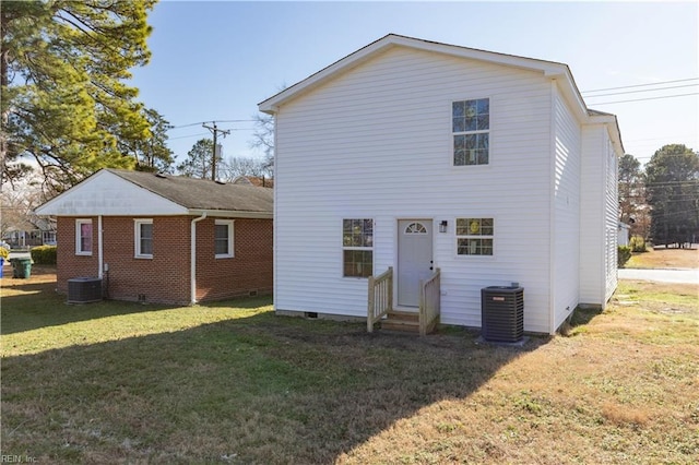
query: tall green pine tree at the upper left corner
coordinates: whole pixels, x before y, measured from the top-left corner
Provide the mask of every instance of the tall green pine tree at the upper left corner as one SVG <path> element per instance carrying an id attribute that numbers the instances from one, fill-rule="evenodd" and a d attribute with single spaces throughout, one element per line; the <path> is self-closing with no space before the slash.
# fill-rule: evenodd
<path id="1" fill-rule="evenodd" d="M 0 162 L 3 180 L 36 160 L 62 189 L 103 167 L 132 168 L 123 145 L 151 136 L 129 70 L 150 59 L 155 0 L 3 2 Z"/>

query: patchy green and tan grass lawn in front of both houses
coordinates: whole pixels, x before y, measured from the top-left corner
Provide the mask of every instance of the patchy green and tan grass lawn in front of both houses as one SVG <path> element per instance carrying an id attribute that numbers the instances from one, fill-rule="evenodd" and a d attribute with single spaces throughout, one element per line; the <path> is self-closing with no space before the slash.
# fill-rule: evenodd
<path id="1" fill-rule="evenodd" d="M 2 283 L 2 454 L 36 463 L 696 464 L 697 286 L 621 282 L 523 348 L 275 317 L 69 306 Z"/>

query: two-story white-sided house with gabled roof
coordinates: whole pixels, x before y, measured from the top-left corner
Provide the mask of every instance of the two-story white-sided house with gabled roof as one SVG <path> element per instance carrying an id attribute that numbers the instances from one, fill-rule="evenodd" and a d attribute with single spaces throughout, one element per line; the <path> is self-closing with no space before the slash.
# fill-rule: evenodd
<path id="1" fill-rule="evenodd" d="M 441 323 L 464 326 L 486 286 L 519 283 L 536 333 L 614 291 L 624 148 L 566 64 L 388 35 L 259 108 L 277 312 L 366 318 L 389 267 L 406 310 L 439 267 Z"/>

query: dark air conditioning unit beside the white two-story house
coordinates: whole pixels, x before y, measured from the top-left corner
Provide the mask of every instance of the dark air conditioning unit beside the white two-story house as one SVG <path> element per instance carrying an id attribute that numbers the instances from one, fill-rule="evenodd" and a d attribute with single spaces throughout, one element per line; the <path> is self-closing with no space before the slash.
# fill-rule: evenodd
<path id="1" fill-rule="evenodd" d="M 481 289 L 481 330 L 486 341 L 521 341 L 524 336 L 524 289 L 519 286 Z"/>

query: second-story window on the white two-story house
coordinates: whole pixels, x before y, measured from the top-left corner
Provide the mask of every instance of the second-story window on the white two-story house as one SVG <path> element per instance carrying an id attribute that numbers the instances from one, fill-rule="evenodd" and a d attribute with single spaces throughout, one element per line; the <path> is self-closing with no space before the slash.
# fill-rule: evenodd
<path id="1" fill-rule="evenodd" d="M 487 165 L 490 138 L 490 99 L 453 102 L 451 132 L 454 166 Z"/>

